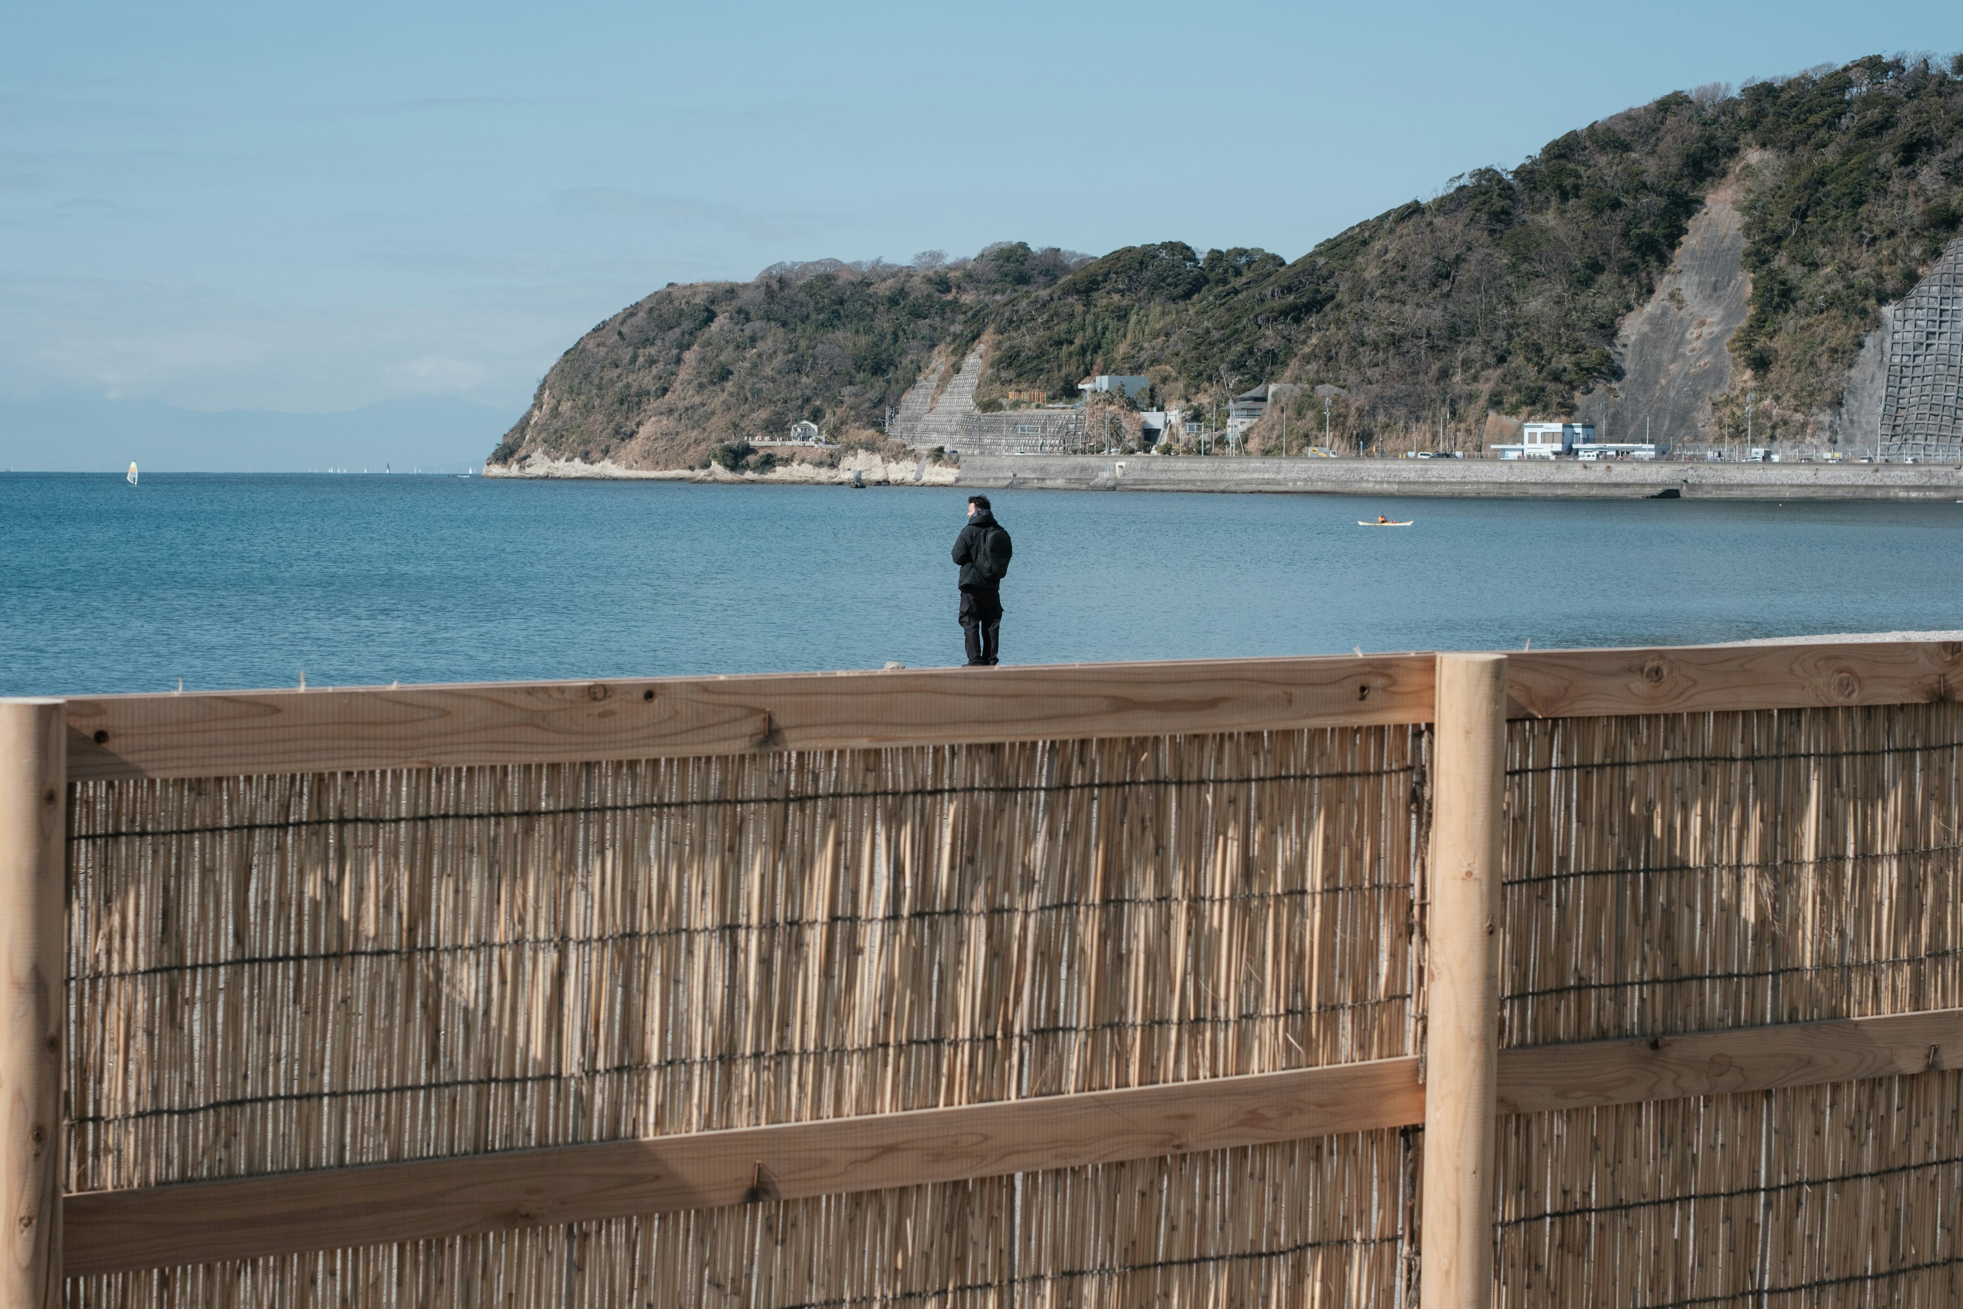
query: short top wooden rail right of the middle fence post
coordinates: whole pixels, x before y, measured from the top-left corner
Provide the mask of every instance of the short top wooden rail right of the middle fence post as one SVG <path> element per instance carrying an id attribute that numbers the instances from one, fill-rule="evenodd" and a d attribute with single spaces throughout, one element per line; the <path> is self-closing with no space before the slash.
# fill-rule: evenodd
<path id="1" fill-rule="evenodd" d="M 1508 657 L 1515 718 L 1922 705 L 1963 695 L 1963 644 L 1535 650 Z"/>

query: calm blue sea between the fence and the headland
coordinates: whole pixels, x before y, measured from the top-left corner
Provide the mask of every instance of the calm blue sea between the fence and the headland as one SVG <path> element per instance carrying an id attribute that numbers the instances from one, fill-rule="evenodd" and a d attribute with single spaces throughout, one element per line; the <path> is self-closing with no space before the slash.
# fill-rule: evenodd
<path id="1" fill-rule="evenodd" d="M 1963 504 L 993 500 L 1005 663 L 1963 628 Z M 0 695 L 958 663 L 964 502 L 0 475 Z"/>

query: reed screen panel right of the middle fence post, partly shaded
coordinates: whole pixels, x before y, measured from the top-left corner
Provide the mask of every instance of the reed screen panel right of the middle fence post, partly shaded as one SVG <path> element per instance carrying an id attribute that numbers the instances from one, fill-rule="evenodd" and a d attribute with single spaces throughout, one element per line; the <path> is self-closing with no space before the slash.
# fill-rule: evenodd
<path id="1" fill-rule="evenodd" d="M 1963 707 L 1513 724 L 1502 1040 L 1963 1005 Z M 1963 1303 L 1963 1073 L 1519 1115 L 1502 1301 Z"/>

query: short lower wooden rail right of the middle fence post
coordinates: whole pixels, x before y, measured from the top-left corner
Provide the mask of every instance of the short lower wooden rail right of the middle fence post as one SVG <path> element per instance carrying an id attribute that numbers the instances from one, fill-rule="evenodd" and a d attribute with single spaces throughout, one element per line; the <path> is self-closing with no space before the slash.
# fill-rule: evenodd
<path id="1" fill-rule="evenodd" d="M 1500 1113 L 1861 1081 L 1963 1068 L 1963 1009 L 1786 1022 L 1500 1056 Z"/>

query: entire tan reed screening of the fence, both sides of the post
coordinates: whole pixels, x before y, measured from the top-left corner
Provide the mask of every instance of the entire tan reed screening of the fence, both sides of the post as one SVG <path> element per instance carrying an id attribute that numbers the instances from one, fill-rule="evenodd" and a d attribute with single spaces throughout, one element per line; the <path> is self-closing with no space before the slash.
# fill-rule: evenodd
<path id="1" fill-rule="evenodd" d="M 1425 728 L 73 797 L 71 1189 L 1417 1052 Z M 1963 1005 L 1963 708 L 1515 724 L 1502 1034 Z M 1963 1073 L 1502 1121 L 1508 1305 L 1963 1303 Z M 73 1280 L 75 1305 L 1415 1303 L 1421 1132 Z"/>

